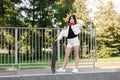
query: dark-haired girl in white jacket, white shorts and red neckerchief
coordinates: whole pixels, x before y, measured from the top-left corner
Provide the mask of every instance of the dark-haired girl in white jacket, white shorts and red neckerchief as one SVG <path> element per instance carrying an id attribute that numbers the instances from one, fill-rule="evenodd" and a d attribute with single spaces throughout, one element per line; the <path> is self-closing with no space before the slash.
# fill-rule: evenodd
<path id="1" fill-rule="evenodd" d="M 61 40 L 62 37 L 67 37 L 67 47 L 65 50 L 65 57 L 64 57 L 64 63 L 62 68 L 56 70 L 57 72 L 65 72 L 66 71 L 66 65 L 68 63 L 68 58 L 70 55 L 70 52 L 73 48 L 74 50 L 74 56 L 75 56 L 75 67 L 73 68 L 72 72 L 77 73 L 78 72 L 78 65 L 79 65 L 79 38 L 78 34 L 80 33 L 80 28 L 84 25 L 83 21 L 79 20 L 77 22 L 76 16 L 71 15 L 68 20 L 68 24 L 60 34 L 58 35 L 57 39 L 55 41 Z"/>

